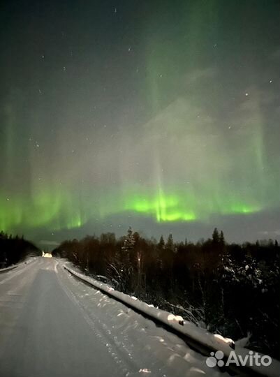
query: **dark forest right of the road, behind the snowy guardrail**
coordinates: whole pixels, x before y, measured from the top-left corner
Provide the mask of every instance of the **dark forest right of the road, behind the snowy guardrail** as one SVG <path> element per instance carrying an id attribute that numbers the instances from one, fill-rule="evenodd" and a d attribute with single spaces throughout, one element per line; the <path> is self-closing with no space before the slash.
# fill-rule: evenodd
<path id="1" fill-rule="evenodd" d="M 193 243 L 146 239 L 131 228 L 62 242 L 67 258 L 115 289 L 183 316 L 210 332 L 249 338 L 249 348 L 280 358 L 277 241 L 228 244 L 214 229 Z"/>

